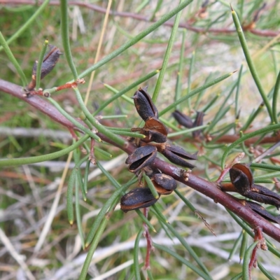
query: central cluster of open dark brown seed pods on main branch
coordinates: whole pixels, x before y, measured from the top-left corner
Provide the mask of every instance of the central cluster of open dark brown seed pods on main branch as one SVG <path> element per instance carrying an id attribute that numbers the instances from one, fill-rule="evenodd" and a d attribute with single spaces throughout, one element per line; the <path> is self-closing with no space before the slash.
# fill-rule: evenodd
<path id="1" fill-rule="evenodd" d="M 128 170 L 135 174 L 146 172 L 155 190 L 160 195 L 169 195 L 176 189 L 176 181 L 166 174 L 151 168 L 157 153 L 162 153 L 170 162 L 193 169 L 195 165 L 187 160 L 197 160 L 197 153 L 190 154 L 179 146 L 167 143 L 167 128 L 158 119 L 158 109 L 153 104 L 147 87 L 139 88 L 134 93 L 134 104 L 139 116 L 144 120 L 144 127 L 132 128 L 132 132 L 144 134 L 146 138 L 134 141 L 137 149 L 129 155 L 125 163 Z M 136 188 L 124 195 L 120 200 L 120 209 L 127 212 L 134 209 L 150 207 L 158 201 L 149 188 Z"/>

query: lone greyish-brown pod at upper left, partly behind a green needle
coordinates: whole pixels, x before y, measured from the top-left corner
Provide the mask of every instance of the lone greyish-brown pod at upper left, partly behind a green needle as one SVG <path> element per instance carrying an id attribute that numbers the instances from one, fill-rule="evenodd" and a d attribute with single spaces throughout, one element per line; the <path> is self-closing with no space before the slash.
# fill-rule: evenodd
<path id="1" fill-rule="evenodd" d="M 57 48 L 55 45 L 49 45 L 50 50 L 48 53 L 45 54 L 43 58 L 43 63 L 41 67 L 41 79 L 54 69 L 55 64 L 57 64 L 59 56 L 62 55 L 62 52 Z M 38 61 L 34 62 L 33 69 L 32 69 L 32 80 L 27 86 L 27 90 L 34 90 L 36 87 L 36 71 L 37 71 L 37 64 Z"/>

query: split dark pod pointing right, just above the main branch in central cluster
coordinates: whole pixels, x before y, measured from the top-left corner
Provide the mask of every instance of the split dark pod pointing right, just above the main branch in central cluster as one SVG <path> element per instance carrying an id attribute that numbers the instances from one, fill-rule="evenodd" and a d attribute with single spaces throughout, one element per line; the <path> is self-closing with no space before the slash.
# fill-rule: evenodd
<path id="1" fill-rule="evenodd" d="M 190 164 L 190 162 L 187 162 L 186 160 L 197 160 L 197 153 L 190 154 L 187 153 L 183 148 L 170 144 L 165 144 L 158 147 L 158 151 L 175 165 L 188 167 L 190 169 L 195 167 L 195 165 Z"/>

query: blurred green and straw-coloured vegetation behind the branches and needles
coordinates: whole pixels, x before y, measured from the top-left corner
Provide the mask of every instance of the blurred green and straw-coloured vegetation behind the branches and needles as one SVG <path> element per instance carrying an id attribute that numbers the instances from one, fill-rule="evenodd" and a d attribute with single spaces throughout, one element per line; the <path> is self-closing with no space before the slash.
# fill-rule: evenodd
<path id="1" fill-rule="evenodd" d="M 13 1 L 9 4 L 3 2 L 5 1 L 0 1 L 0 27 L 3 36 L 8 39 L 34 15 L 38 6 L 33 1 L 22 1 L 15 5 L 12 4 Z M 50 44 L 57 45 L 64 52 L 58 1 L 50 2 L 51 4 L 38 15 L 36 20 L 10 43 L 10 49 L 28 78 L 31 78 L 32 66 L 38 59 L 45 38 L 48 38 Z M 278 0 L 231 1 L 244 29 L 248 29 L 245 33 L 248 47 L 262 86 L 267 93 L 273 90 L 279 72 L 279 2 Z M 94 64 L 107 2 L 80 0 L 75 3 L 76 5 L 73 5 L 69 1 L 69 34 L 73 61 L 78 73 L 81 73 Z M 93 8 L 84 7 L 83 3 L 92 3 Z M 118 14 L 109 15 L 100 58 L 119 48 L 128 39 L 149 27 L 154 19 L 161 18 L 178 4 L 179 1 L 167 0 L 113 1 L 111 10 L 118 10 Z M 172 23 L 173 20 L 174 18 L 170 22 Z M 204 117 L 204 124 L 214 120 L 221 109 L 228 107 L 228 111 L 218 118 L 218 123 L 211 128 L 209 134 L 211 137 L 220 134 L 235 134 L 238 128 L 246 123 L 253 110 L 258 109 L 262 99 L 244 60 L 232 22 L 230 1 L 193 1 L 183 10 L 180 22 L 181 27 L 176 34 L 176 41 L 160 90 L 160 98 L 156 102 L 158 110 L 161 111 L 174 102 L 180 65 L 183 66 L 181 85 L 179 85 L 182 95 L 203 85 L 207 80 L 214 80 L 225 73 L 240 70 L 243 66 L 241 72 L 235 73 L 202 94 L 192 97 L 190 102 L 179 106 L 183 113 L 195 118 L 195 111 L 205 109 L 205 106 L 218 95 L 214 106 L 209 108 Z M 147 73 L 160 69 L 171 31 L 172 27 L 162 25 L 121 55 L 97 69 L 87 108 L 93 112 L 102 102 L 112 96 L 113 93 L 104 86 L 104 83 L 122 90 Z M 182 48 L 183 36 L 186 36 L 186 39 Z M 0 78 L 21 85 L 18 73 L 3 50 L 0 52 L 0 64 Z M 144 83 L 148 85 L 148 92 L 153 92 L 157 78 L 158 76 L 154 76 Z M 62 55 L 55 69 L 42 80 L 41 87 L 45 89 L 63 85 L 71 79 L 71 71 L 67 66 L 66 58 Z M 85 80 L 87 82 L 89 77 L 85 77 Z M 233 86 L 237 80 L 239 81 L 239 100 L 236 103 L 237 87 Z M 232 88 L 234 94 L 230 94 Z M 87 83 L 80 85 L 79 89 L 84 97 Z M 137 87 L 128 92 L 127 97 L 132 97 L 135 90 Z M 25 102 L 3 92 L 0 94 L 1 158 L 44 155 L 71 144 L 71 134 L 62 125 L 45 117 L 43 113 L 36 111 Z M 52 98 L 59 102 L 71 116 L 80 116 L 80 107 L 72 90 L 57 92 L 52 94 Z M 239 112 L 238 120 L 236 120 L 237 112 Z M 178 126 L 170 113 L 165 115 L 165 118 Z M 111 119 L 106 125 L 113 124 L 116 127 L 139 125 L 139 116 L 134 106 L 123 99 L 117 99 L 116 102 L 106 106 L 101 114 L 102 116 L 127 115 L 127 118 Z M 236 126 L 227 130 L 228 125 L 232 123 Z M 264 110 L 255 118 L 250 129 L 255 130 L 266 125 L 269 125 L 269 116 Z M 204 143 L 197 144 L 192 141 L 191 133 L 186 137 L 188 141 L 181 138 L 176 139 L 176 143 L 184 146 L 187 151 L 200 151 L 197 168 L 193 170 L 193 173 L 211 181 L 217 179 L 221 171 L 219 167 L 226 143 L 204 146 Z M 106 165 L 111 175 L 120 184 L 127 183 L 132 175 L 127 172 L 126 156 L 123 151 L 106 144 L 99 144 L 99 147 L 111 153 L 113 159 L 99 153 L 97 153 L 97 159 Z M 265 147 L 262 146 L 262 148 Z M 242 151 L 241 148 L 237 149 L 237 152 L 239 151 Z M 251 151 L 257 153 L 258 147 L 253 146 Z M 274 151 L 277 156 L 276 152 Z M 232 157 L 235 155 L 233 154 Z M 250 161 L 253 155 L 248 151 L 244 162 Z M 41 250 L 34 252 L 41 229 L 56 196 L 66 159 L 67 157 L 64 156 L 52 162 L 0 170 L 0 225 L 16 251 L 20 255 L 25 255 L 25 263 L 34 275 L 34 279 L 78 279 L 85 259 L 86 252 L 81 249 L 76 224 L 70 227 L 66 216 L 66 183 L 62 189 L 62 197 L 59 200 L 51 229 Z M 70 169 L 73 166 L 72 163 Z M 258 172 L 257 175 L 264 174 Z M 265 186 L 273 188 L 274 184 Z M 96 167 L 91 166 L 87 202 L 80 197 L 80 212 L 85 233 L 92 225 L 94 216 L 97 215 L 104 202 L 111 197 L 114 190 L 106 176 Z M 241 241 L 241 228 L 221 205 L 215 204 L 186 186 L 179 185 L 179 190 L 202 214 L 216 236 L 175 194 L 160 199 L 158 205 L 162 213 L 167 216 L 169 223 L 176 228 L 177 232 L 186 238 L 188 244 L 193 246 L 195 253 L 200 256 L 213 279 L 231 279 L 241 272 L 240 244 L 231 260 L 228 260 L 235 241 Z M 193 262 L 176 238 L 173 241 L 169 239 L 158 219 L 153 214 L 149 218 L 157 230 L 156 234 L 152 234 L 153 241 L 161 244 L 163 242 L 183 258 Z M 117 207 L 99 242 L 87 275 L 88 279 L 133 279 L 131 260 L 133 260 L 134 239 L 141 226 L 142 221 L 134 211 L 124 214 Z M 253 241 L 249 237 L 248 244 L 251 243 Z M 276 242 L 274 245 L 280 248 Z M 141 256 L 145 258 L 146 242 L 141 241 L 140 246 Z M 258 257 L 276 279 L 280 277 L 279 258 L 263 251 L 258 251 Z M 113 272 L 113 269 L 117 269 L 116 272 Z M 112 274 L 106 274 L 106 272 L 112 272 Z M 154 279 L 198 279 L 197 274 L 182 265 L 182 262 L 158 249 L 155 249 L 151 255 L 151 272 Z M 0 275 L 1 279 L 25 279 L 20 278 L 22 269 L 3 244 L 0 247 Z M 253 269 L 253 277 L 267 279 L 259 269 Z"/>

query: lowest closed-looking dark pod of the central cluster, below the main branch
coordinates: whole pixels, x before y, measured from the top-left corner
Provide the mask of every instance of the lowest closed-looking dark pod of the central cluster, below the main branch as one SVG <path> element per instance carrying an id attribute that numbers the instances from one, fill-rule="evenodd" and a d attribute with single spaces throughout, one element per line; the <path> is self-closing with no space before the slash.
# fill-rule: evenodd
<path id="1" fill-rule="evenodd" d="M 149 188 L 136 188 L 120 199 L 120 209 L 124 212 L 150 207 L 158 200 Z"/>

